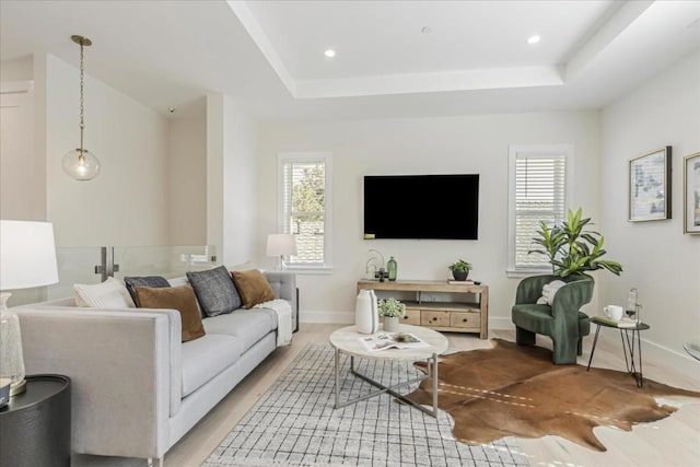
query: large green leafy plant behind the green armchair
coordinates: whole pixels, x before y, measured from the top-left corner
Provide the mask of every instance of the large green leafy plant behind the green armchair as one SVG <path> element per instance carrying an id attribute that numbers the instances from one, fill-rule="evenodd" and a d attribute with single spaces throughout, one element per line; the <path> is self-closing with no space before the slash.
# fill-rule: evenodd
<path id="1" fill-rule="evenodd" d="M 537 231 L 539 237 L 533 241 L 542 249 L 527 253 L 546 255 L 555 276 L 583 275 L 596 269 L 607 269 L 619 276 L 622 272 L 619 262 L 600 259 L 607 254 L 603 248 L 604 237 L 598 232 L 587 230 L 590 223 L 591 218 L 583 218 L 581 208 L 575 213 L 569 209 L 563 223 L 551 227 L 546 222 L 540 223 Z"/>

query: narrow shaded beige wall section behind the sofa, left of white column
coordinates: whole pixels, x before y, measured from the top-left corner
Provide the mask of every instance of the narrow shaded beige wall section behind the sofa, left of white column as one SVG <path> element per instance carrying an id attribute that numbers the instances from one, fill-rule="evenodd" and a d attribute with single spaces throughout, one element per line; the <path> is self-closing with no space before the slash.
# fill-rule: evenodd
<path id="1" fill-rule="evenodd" d="M 171 245 L 206 245 L 206 119 L 171 120 L 167 168 Z"/>

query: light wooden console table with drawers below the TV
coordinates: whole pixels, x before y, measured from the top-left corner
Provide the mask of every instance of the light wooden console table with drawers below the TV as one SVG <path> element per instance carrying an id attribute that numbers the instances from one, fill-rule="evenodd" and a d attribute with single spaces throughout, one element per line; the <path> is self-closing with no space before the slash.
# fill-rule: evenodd
<path id="1" fill-rule="evenodd" d="M 444 281 L 358 281 L 358 293 L 371 289 L 377 297 L 394 296 L 406 304 L 402 324 L 425 326 L 451 332 L 476 332 L 481 339 L 489 337 L 489 288 L 469 283 Z M 405 295 L 411 299 L 406 300 Z M 433 301 L 436 295 L 456 297 L 452 301 Z M 468 294 L 468 295 L 467 295 Z M 471 300 L 471 297 L 476 300 Z"/>

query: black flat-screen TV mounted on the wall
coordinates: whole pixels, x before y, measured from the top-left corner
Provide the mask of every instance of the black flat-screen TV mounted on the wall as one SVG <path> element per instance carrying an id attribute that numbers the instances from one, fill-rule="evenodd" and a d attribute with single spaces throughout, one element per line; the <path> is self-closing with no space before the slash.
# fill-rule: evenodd
<path id="1" fill-rule="evenodd" d="M 365 175 L 364 238 L 477 240 L 479 174 Z"/>

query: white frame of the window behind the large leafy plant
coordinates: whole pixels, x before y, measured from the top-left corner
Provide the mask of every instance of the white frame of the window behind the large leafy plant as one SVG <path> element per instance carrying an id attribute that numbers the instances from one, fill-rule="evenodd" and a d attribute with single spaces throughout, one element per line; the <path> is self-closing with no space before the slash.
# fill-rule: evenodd
<path id="1" fill-rule="evenodd" d="M 564 199 L 563 215 L 573 199 L 573 165 L 574 165 L 574 145 L 573 144 L 512 144 L 509 145 L 509 195 L 508 195 L 508 277 L 523 277 L 533 273 L 551 273 L 551 266 L 518 266 L 515 262 L 515 175 L 516 162 L 523 157 L 552 157 L 561 155 L 564 159 Z M 563 220 L 563 219 L 562 219 Z"/>

